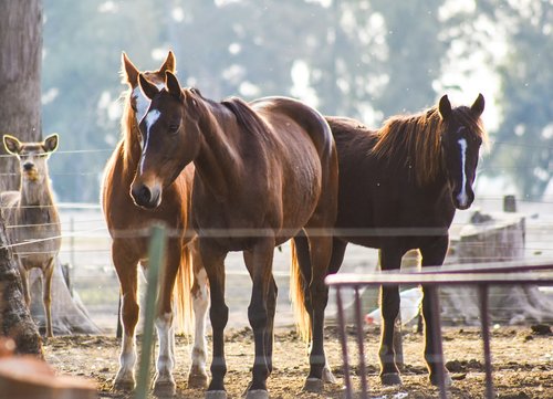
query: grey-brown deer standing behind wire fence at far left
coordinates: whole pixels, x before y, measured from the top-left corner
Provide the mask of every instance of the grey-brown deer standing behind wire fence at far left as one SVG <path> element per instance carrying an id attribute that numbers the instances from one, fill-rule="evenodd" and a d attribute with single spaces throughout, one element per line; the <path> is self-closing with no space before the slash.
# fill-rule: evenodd
<path id="1" fill-rule="evenodd" d="M 60 252 L 60 217 L 54 204 L 46 160 L 58 149 L 56 134 L 41 143 L 21 143 L 10 135 L 3 136 L 6 150 L 18 157 L 21 167 L 19 191 L 0 193 L 2 217 L 8 239 L 18 263 L 23 295 L 30 305 L 29 271 L 42 270 L 42 301 L 46 316 L 46 337 L 52 337 L 52 274 Z"/>

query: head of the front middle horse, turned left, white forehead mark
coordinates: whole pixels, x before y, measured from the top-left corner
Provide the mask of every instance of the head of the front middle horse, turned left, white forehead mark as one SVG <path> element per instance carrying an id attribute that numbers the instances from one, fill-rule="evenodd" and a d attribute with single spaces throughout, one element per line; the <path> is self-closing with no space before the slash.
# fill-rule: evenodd
<path id="1" fill-rule="evenodd" d="M 191 162 L 200 148 L 200 97 L 181 90 L 177 77 L 166 72 L 166 88 L 159 90 L 138 75 L 142 91 L 150 99 L 139 124 L 142 155 L 131 196 L 136 204 L 156 208 L 163 190 Z"/>

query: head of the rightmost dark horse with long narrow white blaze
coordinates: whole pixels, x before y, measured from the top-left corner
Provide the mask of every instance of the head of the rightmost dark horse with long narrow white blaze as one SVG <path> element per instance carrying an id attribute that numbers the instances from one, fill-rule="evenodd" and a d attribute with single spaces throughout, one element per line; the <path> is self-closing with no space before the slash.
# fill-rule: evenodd
<path id="1" fill-rule="evenodd" d="M 438 111 L 445 124 L 441 134 L 444 165 L 451 189 L 451 200 L 457 209 L 468 209 L 474 200 L 474 182 L 479 150 L 486 133 L 480 115 L 484 109 L 481 94 L 470 106 L 452 108 L 447 95 L 442 96 Z"/>

